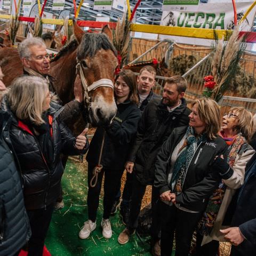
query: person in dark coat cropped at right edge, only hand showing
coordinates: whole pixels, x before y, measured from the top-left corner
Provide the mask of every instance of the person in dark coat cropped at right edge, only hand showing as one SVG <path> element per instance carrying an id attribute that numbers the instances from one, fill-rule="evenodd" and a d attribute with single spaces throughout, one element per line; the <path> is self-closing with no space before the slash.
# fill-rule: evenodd
<path id="1" fill-rule="evenodd" d="M 231 227 L 220 230 L 232 243 L 231 256 L 253 256 L 256 250 L 256 155 L 247 164 Z"/>

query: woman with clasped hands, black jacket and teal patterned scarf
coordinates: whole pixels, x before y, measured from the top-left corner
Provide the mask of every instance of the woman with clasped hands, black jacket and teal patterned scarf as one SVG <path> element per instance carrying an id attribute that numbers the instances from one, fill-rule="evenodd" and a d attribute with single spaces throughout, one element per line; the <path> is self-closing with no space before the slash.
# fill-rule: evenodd
<path id="1" fill-rule="evenodd" d="M 222 172 L 215 157 L 227 159 L 227 146 L 218 135 L 220 109 L 212 99 L 193 103 L 189 125 L 175 128 L 157 156 L 155 183 L 162 201 L 161 255 L 187 256 L 197 222 Z"/>

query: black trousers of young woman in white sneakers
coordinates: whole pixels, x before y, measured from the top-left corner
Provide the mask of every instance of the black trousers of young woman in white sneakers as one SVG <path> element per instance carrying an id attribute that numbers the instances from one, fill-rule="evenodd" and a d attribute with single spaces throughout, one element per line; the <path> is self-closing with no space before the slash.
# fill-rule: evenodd
<path id="1" fill-rule="evenodd" d="M 97 210 L 99 207 L 99 197 L 101 190 L 101 183 L 103 174 L 105 173 L 104 180 L 104 197 L 103 197 L 103 219 L 109 219 L 111 208 L 115 201 L 116 191 L 118 189 L 120 180 L 122 178 L 123 170 L 113 170 L 102 168 L 98 174 L 98 180 L 96 186 L 92 188 L 90 181 L 93 177 L 92 171 L 95 166 L 88 165 L 88 195 L 87 195 L 87 206 L 88 206 L 88 217 L 89 220 L 95 222 Z"/>

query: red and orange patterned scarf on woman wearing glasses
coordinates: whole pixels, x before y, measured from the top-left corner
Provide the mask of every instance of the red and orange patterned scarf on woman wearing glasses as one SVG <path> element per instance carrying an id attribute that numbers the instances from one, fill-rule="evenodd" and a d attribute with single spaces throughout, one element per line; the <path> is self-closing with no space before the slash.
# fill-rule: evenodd
<path id="1" fill-rule="evenodd" d="M 222 135 L 222 134 L 220 134 Z M 241 135 L 237 134 L 233 138 L 223 138 L 227 145 L 229 145 L 229 155 L 227 162 L 230 167 L 233 167 L 236 156 L 241 149 L 242 145 L 246 142 L 246 139 Z M 230 143 L 231 141 L 231 143 Z M 213 225 L 217 218 L 218 212 L 220 210 L 221 203 L 223 201 L 223 197 L 225 195 L 227 186 L 223 181 L 219 183 L 218 188 L 213 192 L 210 196 L 209 202 L 206 206 L 206 210 L 203 213 L 202 219 L 198 222 L 198 231 L 203 235 L 209 235 L 213 229 Z"/>

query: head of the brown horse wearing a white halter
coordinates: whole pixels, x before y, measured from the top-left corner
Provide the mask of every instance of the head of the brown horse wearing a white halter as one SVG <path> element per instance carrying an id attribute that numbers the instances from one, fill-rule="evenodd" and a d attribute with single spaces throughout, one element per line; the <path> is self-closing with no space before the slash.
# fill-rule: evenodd
<path id="1" fill-rule="evenodd" d="M 109 124 L 117 110 L 113 84 L 117 58 L 111 30 L 105 26 L 102 34 L 84 33 L 74 22 L 74 35 L 79 44 L 77 71 L 84 87 L 84 101 L 89 104 L 90 121 L 94 125 Z"/>

